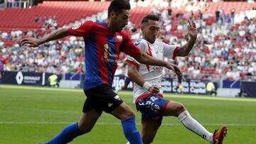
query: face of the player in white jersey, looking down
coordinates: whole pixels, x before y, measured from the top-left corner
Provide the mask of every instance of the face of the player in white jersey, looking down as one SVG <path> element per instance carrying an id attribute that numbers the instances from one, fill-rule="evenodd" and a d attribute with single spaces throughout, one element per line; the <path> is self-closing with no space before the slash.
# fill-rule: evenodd
<path id="1" fill-rule="evenodd" d="M 159 35 L 159 21 L 149 20 L 142 25 L 142 34 L 149 43 L 154 43 Z"/>

